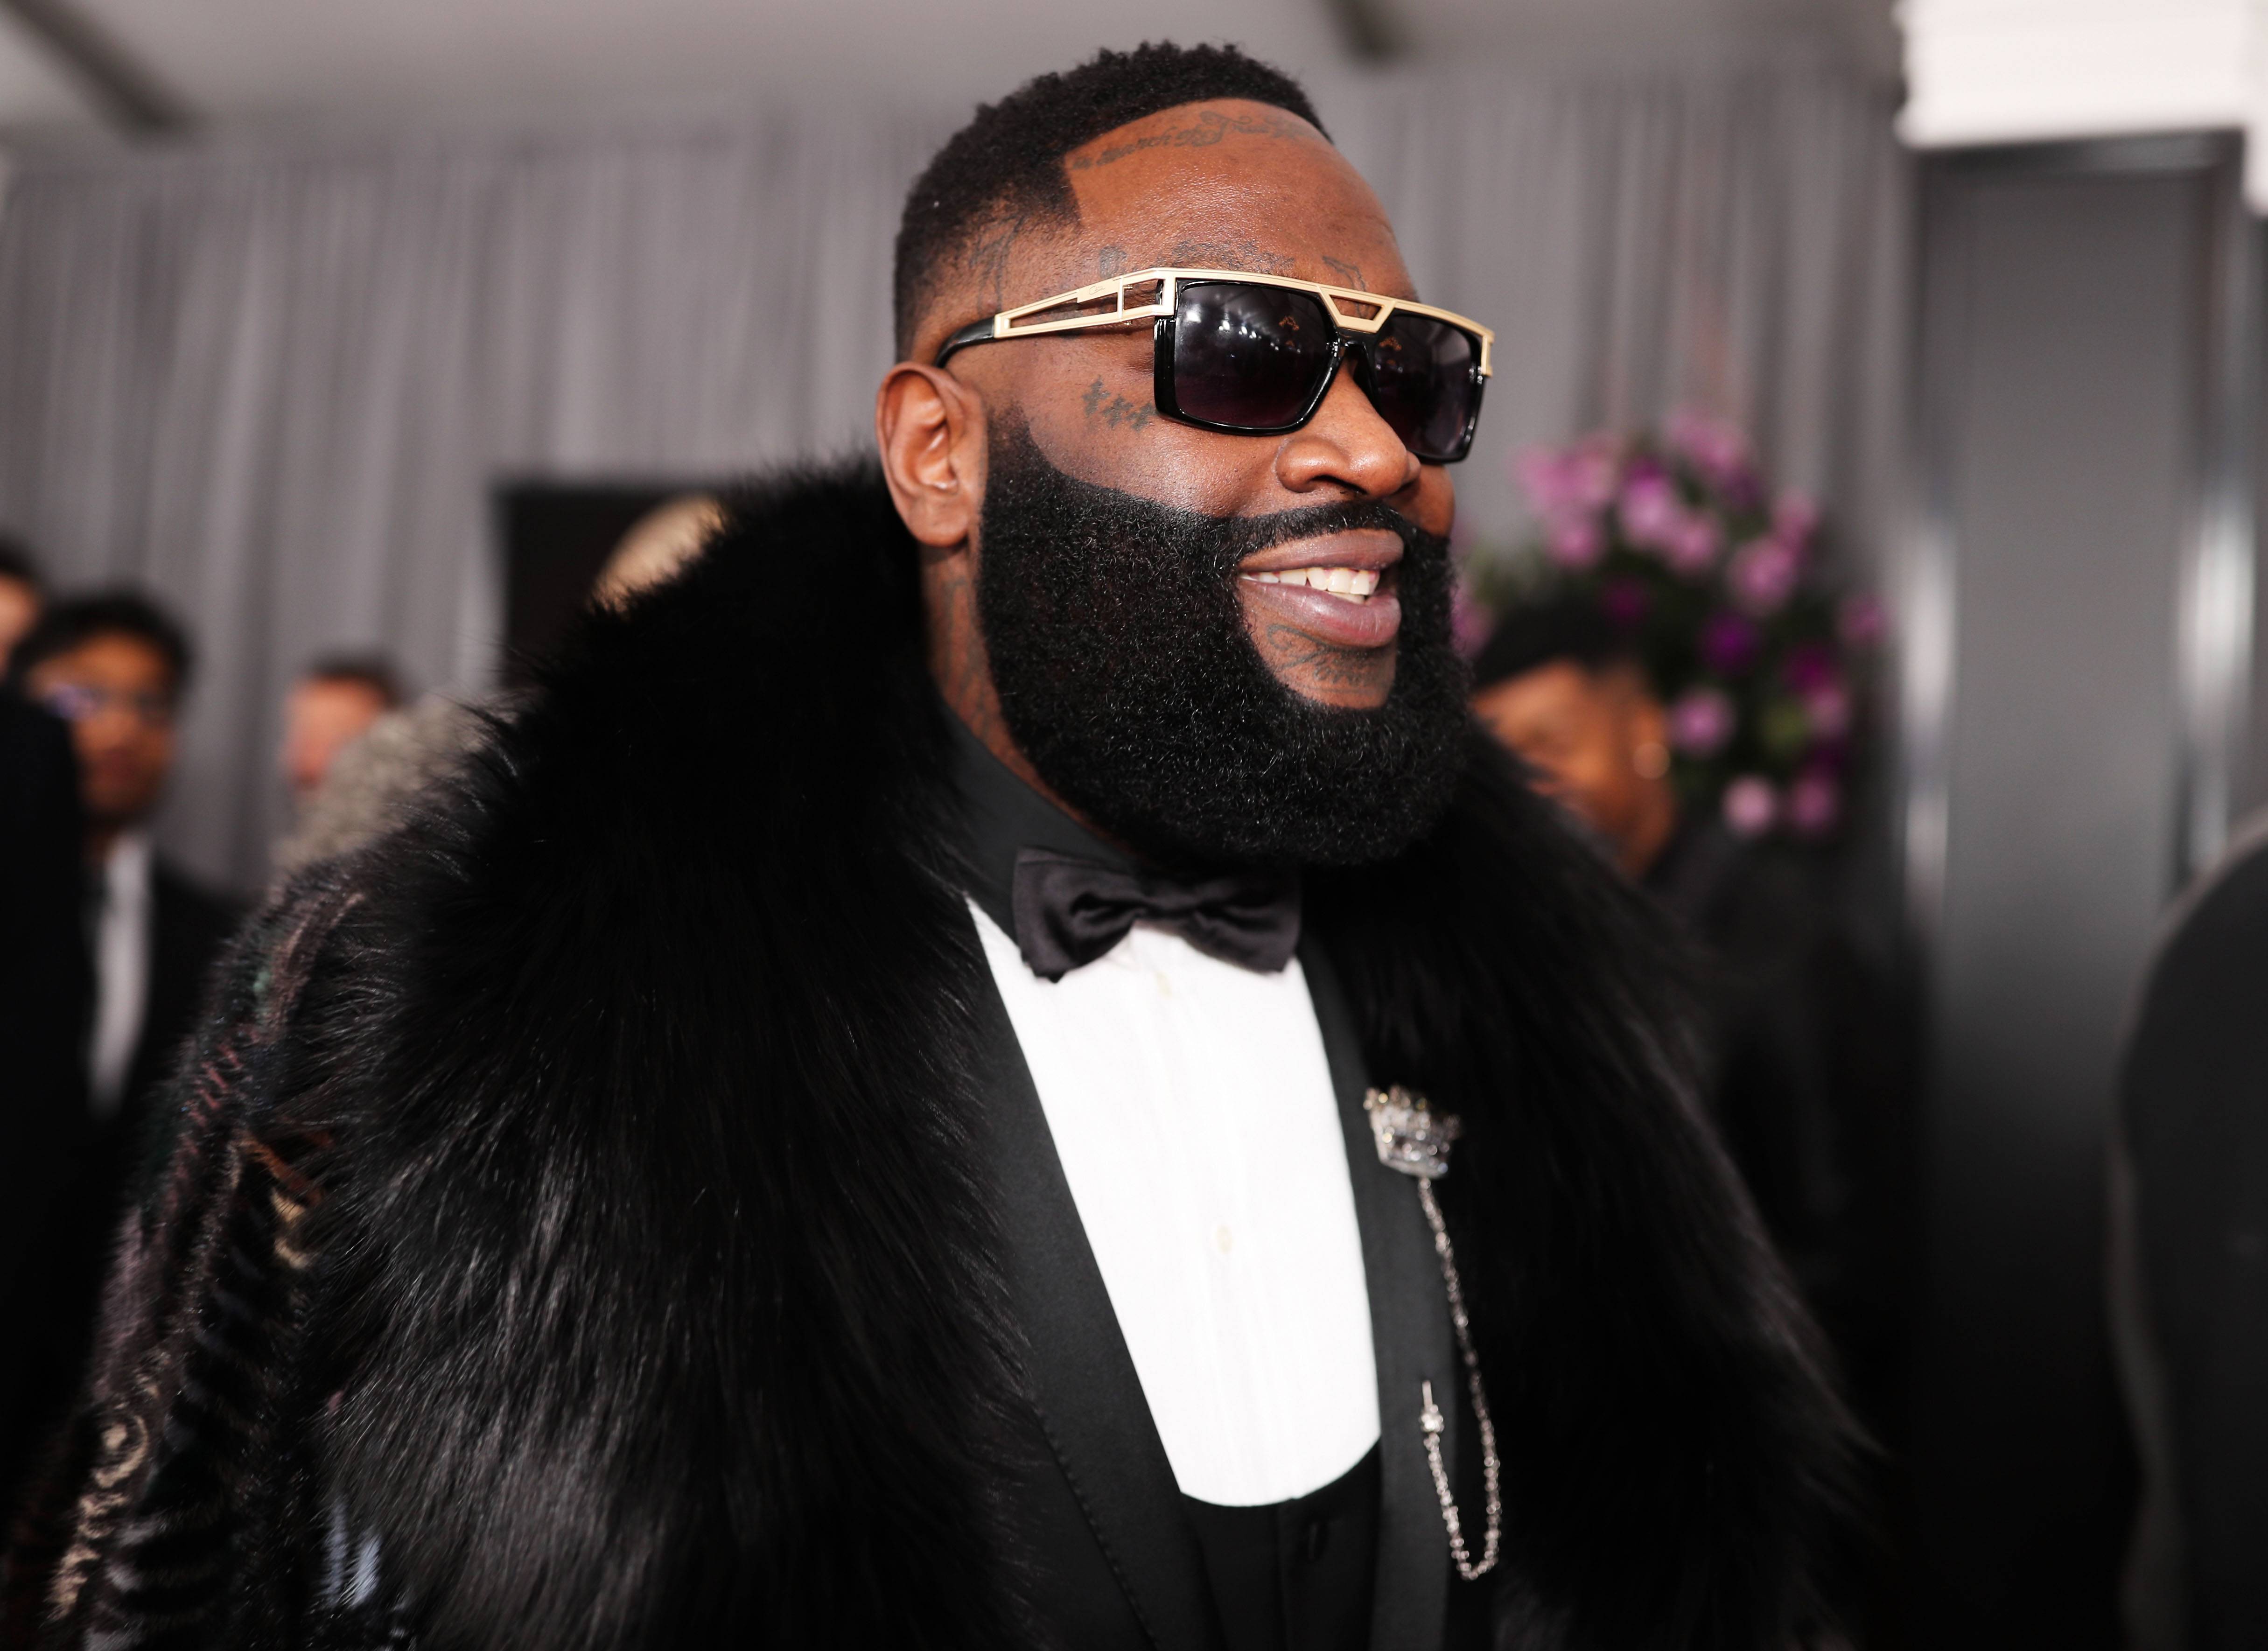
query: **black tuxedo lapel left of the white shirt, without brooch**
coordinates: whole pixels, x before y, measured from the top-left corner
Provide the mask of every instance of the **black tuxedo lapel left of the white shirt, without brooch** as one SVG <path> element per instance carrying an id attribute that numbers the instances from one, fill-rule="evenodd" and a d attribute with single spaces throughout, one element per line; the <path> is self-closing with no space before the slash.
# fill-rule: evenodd
<path id="1" fill-rule="evenodd" d="M 1148 1642 L 1207 1651 L 1216 1631 L 1204 1553 L 989 975 L 978 984 L 975 1016 L 1000 1265 L 1030 1343 L 1025 1381 L 1041 1431 Z"/>

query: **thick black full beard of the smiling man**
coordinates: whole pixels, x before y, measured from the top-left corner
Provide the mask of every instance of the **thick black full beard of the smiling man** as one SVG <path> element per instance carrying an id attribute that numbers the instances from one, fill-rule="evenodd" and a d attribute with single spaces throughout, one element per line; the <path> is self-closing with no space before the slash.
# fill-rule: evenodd
<path id="1" fill-rule="evenodd" d="M 1245 633 L 1236 565 L 1345 528 L 1402 540 L 1395 683 L 1318 705 Z M 996 433 L 978 615 L 1007 730 L 1055 791 L 1161 864 L 1388 860 L 1449 805 L 1465 667 L 1449 542 L 1377 501 L 1209 517 L 1066 476 Z"/>

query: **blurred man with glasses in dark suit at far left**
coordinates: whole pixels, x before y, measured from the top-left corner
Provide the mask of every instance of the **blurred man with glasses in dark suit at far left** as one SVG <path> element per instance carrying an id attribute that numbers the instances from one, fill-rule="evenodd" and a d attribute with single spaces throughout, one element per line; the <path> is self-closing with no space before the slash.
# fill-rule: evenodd
<path id="1" fill-rule="evenodd" d="M 45 744 L 61 744 L 54 719 L 68 728 L 68 753 L 50 751 L 45 767 L 52 757 L 77 764 L 82 878 L 66 866 L 61 887 L 84 889 L 84 903 L 77 934 L 50 946 L 70 948 L 68 957 L 45 964 L 77 984 L 68 1021 L 75 1082 L 70 1093 L 11 1104 L 16 1141 L 34 1143 L 23 1154 L 29 1172 L 68 1197 L 39 1200 L 61 1213 L 11 1234 L 11 1265 L 0 1275 L 9 1279 L 7 1322 L 18 1331 L 16 1395 L 11 1415 L 0 1417 L 0 1497 L 23 1481 L 77 1381 L 118 1211 L 161 1154 L 152 1098 L 238 916 L 150 837 L 188 685 L 181 628 L 132 592 L 79 596 L 48 608 L 11 664 L 20 714 L 45 728 Z M 43 964 L 25 959 L 23 968 L 36 977 Z"/>

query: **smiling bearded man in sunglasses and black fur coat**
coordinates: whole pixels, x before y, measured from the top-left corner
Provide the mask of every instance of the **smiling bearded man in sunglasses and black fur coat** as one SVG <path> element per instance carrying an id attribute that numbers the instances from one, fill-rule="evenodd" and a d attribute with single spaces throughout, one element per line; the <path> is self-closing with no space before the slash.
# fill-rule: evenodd
<path id="1" fill-rule="evenodd" d="M 880 476 L 245 941 L 18 1619 L 1817 1642 L 1842 1413 L 1463 710 L 1486 331 L 1225 50 L 980 111 L 896 290 Z"/>

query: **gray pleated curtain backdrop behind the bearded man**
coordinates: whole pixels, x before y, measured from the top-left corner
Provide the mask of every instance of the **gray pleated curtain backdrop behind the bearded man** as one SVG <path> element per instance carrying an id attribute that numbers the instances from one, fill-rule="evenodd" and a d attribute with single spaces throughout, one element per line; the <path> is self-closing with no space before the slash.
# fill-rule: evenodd
<path id="1" fill-rule="evenodd" d="M 1322 88 L 1427 297 L 1499 329 L 1461 533 L 1508 456 L 1742 420 L 1864 565 L 1898 483 L 1907 172 L 1821 68 Z M 286 823 L 313 653 L 494 671 L 499 479 L 712 476 L 869 442 L 889 243 L 953 118 L 767 111 L 565 134 L 18 156 L 0 209 L 0 524 L 202 653 L 166 841 L 236 887 Z"/>

